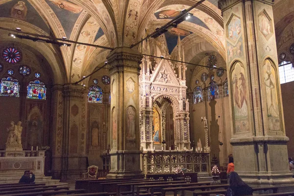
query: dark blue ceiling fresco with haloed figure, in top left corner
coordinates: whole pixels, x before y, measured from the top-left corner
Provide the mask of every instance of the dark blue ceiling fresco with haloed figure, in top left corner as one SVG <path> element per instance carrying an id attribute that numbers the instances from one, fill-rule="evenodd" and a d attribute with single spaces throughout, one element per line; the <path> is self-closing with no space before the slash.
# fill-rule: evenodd
<path id="1" fill-rule="evenodd" d="M 50 32 L 45 21 L 27 0 L 12 0 L 1 4 L 0 17 L 23 20 L 41 28 L 47 33 Z"/>

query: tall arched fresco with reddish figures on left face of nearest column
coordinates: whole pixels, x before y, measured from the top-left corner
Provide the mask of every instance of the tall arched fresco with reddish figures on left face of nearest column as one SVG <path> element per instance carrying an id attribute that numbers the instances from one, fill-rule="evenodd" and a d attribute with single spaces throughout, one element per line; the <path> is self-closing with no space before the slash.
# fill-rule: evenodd
<path id="1" fill-rule="evenodd" d="M 249 129 L 247 86 L 245 81 L 245 69 L 238 62 L 235 64 L 231 75 L 233 107 L 235 119 L 235 132 L 245 132 Z"/>

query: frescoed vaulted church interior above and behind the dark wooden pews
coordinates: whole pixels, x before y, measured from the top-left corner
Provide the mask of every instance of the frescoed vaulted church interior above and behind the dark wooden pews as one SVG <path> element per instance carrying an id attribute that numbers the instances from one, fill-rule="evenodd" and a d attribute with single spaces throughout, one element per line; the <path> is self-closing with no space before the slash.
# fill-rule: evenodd
<path id="1" fill-rule="evenodd" d="M 0 183 L 294 184 L 293 0 L 0 0 L 0 52 Z"/>

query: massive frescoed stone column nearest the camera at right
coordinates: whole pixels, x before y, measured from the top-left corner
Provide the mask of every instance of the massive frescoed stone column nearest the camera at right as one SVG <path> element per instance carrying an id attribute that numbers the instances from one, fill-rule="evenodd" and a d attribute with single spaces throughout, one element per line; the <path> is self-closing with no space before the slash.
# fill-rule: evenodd
<path id="1" fill-rule="evenodd" d="M 219 0 L 226 35 L 235 170 L 256 185 L 294 183 L 289 172 L 272 0 Z"/>

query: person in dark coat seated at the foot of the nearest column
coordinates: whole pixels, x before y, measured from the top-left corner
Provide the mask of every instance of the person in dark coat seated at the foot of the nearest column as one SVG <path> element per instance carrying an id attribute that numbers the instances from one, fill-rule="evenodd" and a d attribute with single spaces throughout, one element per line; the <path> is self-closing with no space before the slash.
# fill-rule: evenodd
<path id="1" fill-rule="evenodd" d="M 252 196 L 253 190 L 238 175 L 237 172 L 229 173 L 230 186 L 225 196 Z"/>

